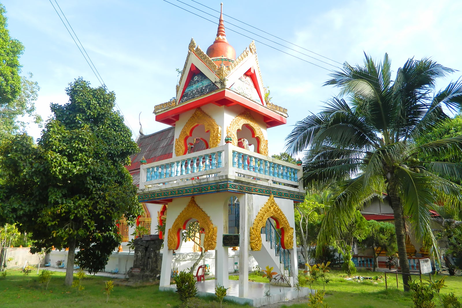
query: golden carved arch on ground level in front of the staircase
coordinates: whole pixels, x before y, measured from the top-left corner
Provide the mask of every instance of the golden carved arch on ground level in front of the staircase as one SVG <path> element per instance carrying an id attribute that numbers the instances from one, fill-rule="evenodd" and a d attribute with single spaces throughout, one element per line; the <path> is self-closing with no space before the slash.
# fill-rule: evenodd
<path id="1" fill-rule="evenodd" d="M 276 228 L 281 229 L 282 248 L 293 249 L 293 228 L 289 225 L 286 215 L 274 201 L 273 195 L 269 196 L 268 201 L 255 217 L 253 226 L 250 227 L 250 248 L 252 250 L 261 249 L 261 228 L 265 226 L 269 217 L 276 222 Z"/>

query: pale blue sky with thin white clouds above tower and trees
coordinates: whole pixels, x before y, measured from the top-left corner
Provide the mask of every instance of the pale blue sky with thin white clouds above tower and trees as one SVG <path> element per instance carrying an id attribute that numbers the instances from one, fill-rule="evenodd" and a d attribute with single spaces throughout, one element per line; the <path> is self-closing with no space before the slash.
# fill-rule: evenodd
<path id="1" fill-rule="evenodd" d="M 55 0 L 51 1 L 59 12 Z M 154 106 L 175 96 L 179 79 L 176 68 L 182 69 L 184 65 L 191 37 L 203 50 L 213 43 L 219 13 L 192 0 L 181 0 L 184 4 L 167 1 L 213 22 L 165 0 L 56 1 L 109 91 L 116 93 L 118 109 L 133 130 L 134 138 L 140 129 L 140 112 L 145 134 L 166 128 L 167 125 L 155 122 Z M 220 0 L 196 1 L 219 11 Z M 22 74 L 31 72 L 32 79 L 41 87 L 36 109 L 45 120 L 51 116 L 50 103 L 67 103 L 65 89 L 74 79 L 83 77 L 92 86 L 100 85 L 49 0 L 1 3 L 6 7 L 10 35 L 25 47 L 20 58 Z M 298 120 L 319 112 L 324 102 L 338 95 L 338 88 L 322 86 L 329 78 L 329 70 L 339 70 L 343 62 L 361 64 L 364 53 L 377 60 L 388 53 L 393 74 L 412 57 L 431 57 L 458 70 L 438 81 L 437 89 L 462 75 L 462 1 L 224 0 L 223 11 L 238 20 L 224 18 L 228 42 L 239 55 L 255 39 L 263 83 L 269 86 L 271 102 L 288 109 L 287 124 L 268 129 L 269 154 L 284 150 L 285 138 Z M 27 132 L 34 139 L 41 136 L 41 128 L 34 124 L 27 127 Z"/>

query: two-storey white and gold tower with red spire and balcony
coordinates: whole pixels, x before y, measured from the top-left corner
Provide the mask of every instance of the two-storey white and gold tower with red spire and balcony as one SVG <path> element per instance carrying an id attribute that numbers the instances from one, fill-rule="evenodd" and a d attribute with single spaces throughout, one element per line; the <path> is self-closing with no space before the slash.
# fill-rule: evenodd
<path id="1" fill-rule="evenodd" d="M 293 286 L 294 202 L 304 200 L 302 167 L 268 156 L 267 129 L 285 124 L 287 110 L 265 101 L 255 43 L 236 56 L 221 13 L 205 52 L 191 39 L 176 95 L 156 105 L 154 114 L 172 126 L 164 134 L 174 134 L 171 154 L 139 165 L 139 200 L 146 209 L 160 206 L 159 223 L 165 226 L 159 289 L 176 288 L 170 284 L 172 258 L 182 245 L 182 230 L 193 221 L 203 230 L 205 249 L 215 252 L 215 279 L 198 282 L 200 293 L 213 293 L 220 284 L 238 302 L 265 304 L 261 286 L 249 282 L 249 254 L 261 269 L 273 267 Z M 237 249 L 239 281 L 231 281 L 228 256 Z M 297 297 L 289 291 L 286 298 Z M 282 294 L 272 296 L 272 302 L 284 300 Z"/>

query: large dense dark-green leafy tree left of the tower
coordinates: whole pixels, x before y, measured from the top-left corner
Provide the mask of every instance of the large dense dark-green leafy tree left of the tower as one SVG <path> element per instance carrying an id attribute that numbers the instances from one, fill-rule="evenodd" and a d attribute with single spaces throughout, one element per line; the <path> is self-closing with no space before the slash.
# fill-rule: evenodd
<path id="1" fill-rule="evenodd" d="M 51 104 L 54 117 L 37 145 L 21 134 L 1 148 L 0 222 L 31 232 L 32 253 L 69 247 L 65 283 L 71 285 L 74 260 L 90 272 L 102 270 L 120 245 L 116 220 L 133 224 L 141 207 L 124 167 L 138 147 L 113 111 L 114 92 L 81 78 L 66 91 L 69 102 Z"/>

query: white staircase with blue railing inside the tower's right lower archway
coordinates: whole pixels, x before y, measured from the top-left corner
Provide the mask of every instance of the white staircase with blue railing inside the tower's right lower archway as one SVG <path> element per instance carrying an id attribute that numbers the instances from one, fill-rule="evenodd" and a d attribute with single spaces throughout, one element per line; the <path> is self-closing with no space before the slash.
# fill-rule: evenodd
<path id="1" fill-rule="evenodd" d="M 290 252 L 282 248 L 281 236 L 271 219 L 268 219 L 265 227 L 261 228 L 261 250 L 252 251 L 252 255 L 261 269 L 265 269 L 266 266 L 273 267 L 273 271 L 278 274 L 284 273 L 293 286 L 294 277 L 289 277 L 291 273 Z"/>

